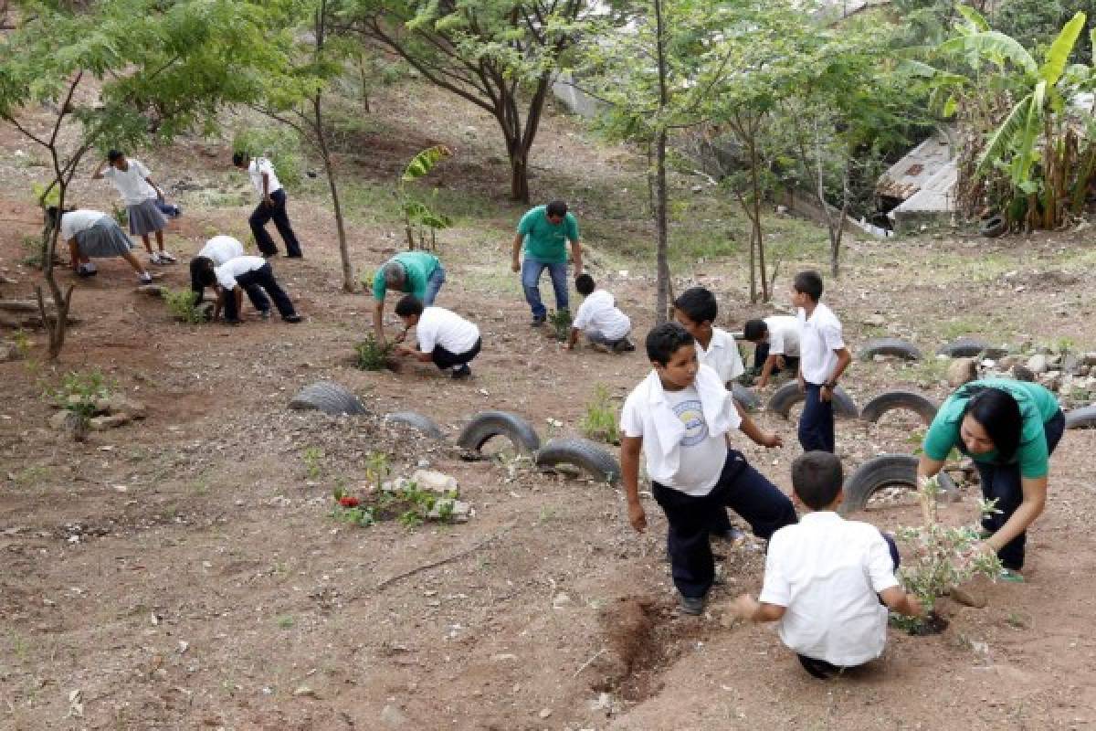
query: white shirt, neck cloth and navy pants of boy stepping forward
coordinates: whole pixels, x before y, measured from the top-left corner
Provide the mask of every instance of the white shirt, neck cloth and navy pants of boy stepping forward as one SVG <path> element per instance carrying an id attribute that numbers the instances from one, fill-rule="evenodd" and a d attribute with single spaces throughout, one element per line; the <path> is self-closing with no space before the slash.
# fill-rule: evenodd
<path id="1" fill-rule="evenodd" d="M 715 580 L 708 537 L 715 513 L 734 510 L 766 539 L 796 522 L 787 495 L 727 446 L 727 433 L 741 423 L 731 395 L 707 365 L 680 391 L 665 390 L 652 370 L 620 413 L 623 433 L 643 439 L 652 493 L 670 523 L 674 585 L 685 597 L 705 596 Z"/>

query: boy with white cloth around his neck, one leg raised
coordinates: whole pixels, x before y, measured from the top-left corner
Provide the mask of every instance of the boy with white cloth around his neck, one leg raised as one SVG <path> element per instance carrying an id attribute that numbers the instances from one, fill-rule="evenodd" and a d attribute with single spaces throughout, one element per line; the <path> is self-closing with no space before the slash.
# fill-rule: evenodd
<path id="1" fill-rule="evenodd" d="M 646 458 L 651 492 L 670 523 L 667 548 L 682 612 L 704 612 L 716 576 L 709 530 L 712 516 L 731 507 L 754 535 L 768 538 L 796 522 L 787 495 L 728 446 L 739 430 L 765 447 L 780 437 L 762 431 L 742 412 L 720 377 L 697 363 L 693 335 L 677 322 L 647 335 L 654 369 L 628 396 L 620 413 L 620 467 L 628 521 L 642 533 L 639 455 Z"/>

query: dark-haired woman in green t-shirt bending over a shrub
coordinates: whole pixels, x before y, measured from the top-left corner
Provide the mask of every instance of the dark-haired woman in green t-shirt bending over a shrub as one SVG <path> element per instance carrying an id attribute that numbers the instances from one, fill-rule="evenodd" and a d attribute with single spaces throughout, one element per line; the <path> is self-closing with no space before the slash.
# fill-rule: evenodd
<path id="1" fill-rule="evenodd" d="M 918 478 L 939 472 L 957 447 L 974 460 L 985 499 L 997 501 L 1000 512 L 982 519 L 980 549 L 997 553 L 1006 579 L 1023 581 L 1025 532 L 1047 504 L 1049 458 L 1064 430 L 1065 415 L 1046 388 L 987 378 L 948 397 L 925 434 Z"/>

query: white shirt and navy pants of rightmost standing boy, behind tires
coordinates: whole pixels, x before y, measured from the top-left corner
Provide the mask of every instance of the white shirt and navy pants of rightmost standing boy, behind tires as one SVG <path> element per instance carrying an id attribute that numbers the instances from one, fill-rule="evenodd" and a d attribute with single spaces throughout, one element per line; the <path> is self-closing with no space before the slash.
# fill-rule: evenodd
<path id="1" fill-rule="evenodd" d="M 807 317 L 799 310 L 799 369 L 806 385 L 803 412 L 799 416 L 799 444 L 803 452 L 834 452 L 833 400 L 822 400 L 822 386 L 837 368 L 838 351 L 845 347 L 841 321 L 819 302 Z"/>

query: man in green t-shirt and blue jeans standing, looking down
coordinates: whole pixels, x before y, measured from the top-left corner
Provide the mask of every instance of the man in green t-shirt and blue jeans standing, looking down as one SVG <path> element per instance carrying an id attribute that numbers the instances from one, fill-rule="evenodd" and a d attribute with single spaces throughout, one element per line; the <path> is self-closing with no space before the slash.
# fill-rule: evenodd
<path id="1" fill-rule="evenodd" d="M 540 301 L 540 274 L 547 269 L 556 290 L 556 309 L 569 309 L 567 296 L 567 242 L 571 242 L 574 275 L 582 274 L 582 244 L 579 243 L 579 220 L 567 212 L 567 204 L 552 201 L 546 206 L 530 208 L 517 225 L 514 236 L 512 267 L 522 273 L 525 301 L 533 310 L 533 327 L 539 328 L 547 318 Z M 520 260 L 525 244 L 525 261 Z"/>

